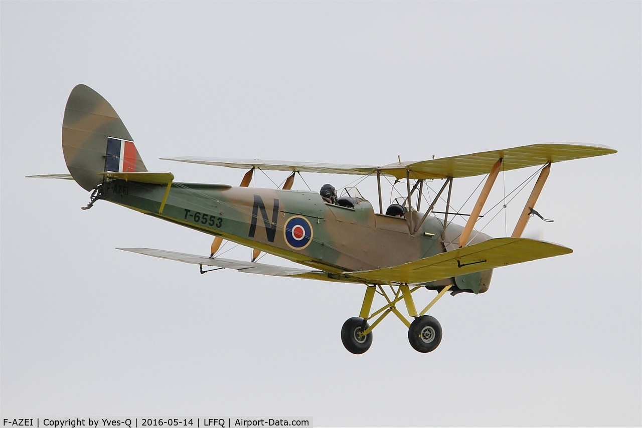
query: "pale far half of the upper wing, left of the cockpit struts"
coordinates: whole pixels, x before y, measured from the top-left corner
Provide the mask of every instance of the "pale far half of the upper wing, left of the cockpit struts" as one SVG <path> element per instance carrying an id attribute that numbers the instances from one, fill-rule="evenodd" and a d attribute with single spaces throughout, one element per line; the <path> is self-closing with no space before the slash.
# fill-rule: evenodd
<path id="1" fill-rule="evenodd" d="M 265 171 L 289 171 L 300 173 L 350 175 L 370 175 L 377 172 L 377 167 L 370 165 L 319 164 L 317 162 L 292 162 L 288 160 L 232 159 L 202 156 L 185 156 L 161 159 L 176 160 L 177 162 L 189 162 L 191 164 L 227 166 L 230 168 L 250 169 L 256 167 L 258 169 L 264 169 Z"/>

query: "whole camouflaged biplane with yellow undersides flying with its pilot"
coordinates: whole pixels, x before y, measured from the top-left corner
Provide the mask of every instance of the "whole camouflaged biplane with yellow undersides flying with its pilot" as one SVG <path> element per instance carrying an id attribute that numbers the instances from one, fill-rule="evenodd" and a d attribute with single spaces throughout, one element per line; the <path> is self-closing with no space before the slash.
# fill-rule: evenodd
<path id="1" fill-rule="evenodd" d="M 372 330 L 389 314 L 408 327 L 408 340 L 415 350 L 431 352 L 442 339 L 442 327 L 426 313 L 446 293 L 484 293 L 494 268 L 571 253 L 566 246 L 522 237 L 528 219 L 539 215 L 535 202 L 551 164 L 616 153 L 606 146 L 550 142 L 418 162 L 398 160 L 383 166 L 169 158 L 247 170 L 239 186 L 177 182 L 169 172 L 148 171 L 114 108 L 86 85 L 76 86 L 67 101 L 62 150 L 70 174 L 49 177 L 73 179 L 91 192 L 83 209 L 105 200 L 214 237 L 209 255 L 120 250 L 195 264 L 201 273 L 227 268 L 361 284 L 365 294 L 358 316 L 345 321 L 341 329 L 343 345 L 353 354 L 370 348 Z M 535 166 L 541 171 L 512 234 L 493 238 L 478 232 L 476 221 L 499 173 Z M 248 187 L 256 170 L 290 175 L 280 189 Z M 301 173 L 372 176 L 377 180 L 378 203 L 373 206 L 356 187 L 347 187 L 341 194 L 331 185 L 320 192 L 292 189 L 295 175 Z M 486 177 L 474 208 L 464 216 L 451 204 L 453 180 L 472 176 Z M 401 183 L 405 195 L 384 205 L 382 178 Z M 440 184 L 430 198 L 425 191 L 428 182 Z M 435 209 L 439 201 L 445 203 L 443 211 Z M 465 225 L 454 223 L 454 218 L 466 219 Z M 217 257 L 223 240 L 253 248 L 252 261 Z M 259 263 L 261 252 L 306 268 Z M 423 308 L 415 305 L 420 289 L 437 292 Z M 374 310 L 376 295 L 385 304 Z M 400 311 L 403 307 L 407 316 Z"/>

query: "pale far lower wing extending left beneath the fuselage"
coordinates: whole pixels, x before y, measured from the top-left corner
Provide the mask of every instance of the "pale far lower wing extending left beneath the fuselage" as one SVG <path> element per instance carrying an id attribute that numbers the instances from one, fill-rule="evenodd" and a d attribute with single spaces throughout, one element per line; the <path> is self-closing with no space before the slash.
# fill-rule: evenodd
<path id="1" fill-rule="evenodd" d="M 238 270 L 239 272 L 245 273 L 259 273 L 261 275 L 272 275 L 276 277 L 307 278 L 325 281 L 363 283 L 363 281 L 359 279 L 352 280 L 351 278 L 345 277 L 343 275 L 330 274 L 324 271 L 284 268 L 283 266 L 274 266 L 272 264 L 221 259 L 221 257 L 210 259 L 209 257 L 205 257 L 202 255 L 177 253 L 165 250 L 154 250 L 153 248 L 117 248 L 117 250 L 125 250 L 132 253 L 151 255 L 152 257 L 159 257 L 159 259 L 175 260 L 178 262 L 213 266 L 216 268 L 234 269 Z"/>

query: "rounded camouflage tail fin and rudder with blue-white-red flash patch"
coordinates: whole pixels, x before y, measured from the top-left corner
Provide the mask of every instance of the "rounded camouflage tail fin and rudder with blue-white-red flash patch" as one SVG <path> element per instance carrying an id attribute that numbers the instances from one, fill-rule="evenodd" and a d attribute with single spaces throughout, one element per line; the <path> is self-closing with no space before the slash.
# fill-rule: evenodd
<path id="1" fill-rule="evenodd" d="M 76 86 L 67 99 L 62 153 L 69 173 L 87 191 L 103 182 L 106 171 L 147 171 L 116 110 L 87 85 Z"/>

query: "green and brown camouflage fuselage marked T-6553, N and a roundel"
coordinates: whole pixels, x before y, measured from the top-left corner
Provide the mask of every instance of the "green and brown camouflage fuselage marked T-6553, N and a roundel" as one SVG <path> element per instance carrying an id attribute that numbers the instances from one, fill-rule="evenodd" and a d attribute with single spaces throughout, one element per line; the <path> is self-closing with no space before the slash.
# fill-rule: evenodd
<path id="1" fill-rule="evenodd" d="M 462 230 L 451 224 L 444 233 L 442 220 L 428 216 L 417 233 L 410 234 L 405 218 L 375 214 L 367 200 L 346 208 L 325 203 L 311 191 L 229 185 L 175 182 L 159 212 L 165 191 L 165 185 L 108 180 L 102 198 L 331 273 L 430 257 L 444 252 L 444 243 L 454 241 Z M 422 213 L 412 215 L 414 224 L 419 223 Z M 487 238 L 479 234 L 473 242 Z M 483 292 L 490 271 L 455 280 L 461 289 Z"/>

